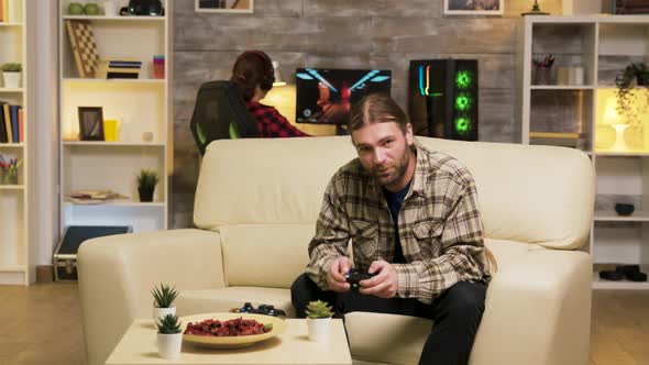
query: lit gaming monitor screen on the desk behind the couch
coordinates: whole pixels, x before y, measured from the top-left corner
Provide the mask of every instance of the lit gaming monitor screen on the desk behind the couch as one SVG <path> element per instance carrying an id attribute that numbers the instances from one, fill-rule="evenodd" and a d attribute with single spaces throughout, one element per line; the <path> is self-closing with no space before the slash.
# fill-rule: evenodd
<path id="1" fill-rule="evenodd" d="M 295 71 L 296 122 L 348 123 L 354 102 L 366 95 L 389 95 L 392 73 L 380 69 L 298 68 Z"/>

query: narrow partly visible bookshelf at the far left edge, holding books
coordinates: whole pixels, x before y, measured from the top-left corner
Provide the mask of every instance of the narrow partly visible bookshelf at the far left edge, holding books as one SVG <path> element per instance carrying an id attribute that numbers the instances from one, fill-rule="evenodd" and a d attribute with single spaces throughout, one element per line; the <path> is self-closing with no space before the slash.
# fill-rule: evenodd
<path id="1" fill-rule="evenodd" d="M 35 5 L 31 0 L 8 0 L 9 14 L 3 12 L 0 21 L 0 65 L 20 63 L 22 65 L 21 80 L 18 87 L 4 84 L 0 77 L 0 103 L 20 106 L 23 113 L 22 142 L 13 142 L 4 137 L 0 141 L 0 155 L 6 159 L 19 158 L 22 165 L 18 172 L 18 184 L 0 185 L 0 222 L 2 222 L 2 239 L 0 239 L 0 285 L 29 285 L 35 281 L 36 250 L 30 234 L 37 224 L 32 215 L 36 211 L 33 196 L 32 176 L 34 166 L 30 159 L 33 145 L 33 124 L 30 104 L 32 103 L 33 80 L 32 71 L 33 47 L 35 32 L 32 29 Z M 2 74 L 2 73 L 0 73 Z M 10 115 L 12 118 L 13 115 Z M 15 115 L 18 117 L 18 114 Z M 16 120 L 18 122 L 18 120 Z M 1 124 L 1 123 L 0 123 Z M 12 126 L 12 133 L 15 128 Z"/>

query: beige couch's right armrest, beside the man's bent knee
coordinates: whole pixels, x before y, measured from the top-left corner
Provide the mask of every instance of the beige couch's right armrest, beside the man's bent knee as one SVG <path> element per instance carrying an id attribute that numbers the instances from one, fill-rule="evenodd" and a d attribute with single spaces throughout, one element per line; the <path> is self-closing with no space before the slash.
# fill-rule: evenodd
<path id="1" fill-rule="evenodd" d="M 487 290 L 471 364 L 588 363 L 591 256 L 538 250 L 502 268 Z"/>

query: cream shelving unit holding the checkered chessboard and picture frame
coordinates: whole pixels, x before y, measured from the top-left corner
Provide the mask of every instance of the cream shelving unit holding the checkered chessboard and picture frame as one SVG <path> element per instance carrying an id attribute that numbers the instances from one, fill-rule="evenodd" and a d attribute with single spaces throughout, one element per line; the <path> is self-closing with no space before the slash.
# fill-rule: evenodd
<path id="1" fill-rule="evenodd" d="M 69 225 L 132 225 L 134 232 L 165 230 L 172 168 L 173 7 L 163 1 L 163 16 L 69 15 L 70 2 L 59 2 L 61 233 Z M 67 21 L 90 23 L 100 59 L 142 62 L 139 77 L 82 77 Z M 155 78 L 155 55 L 165 57 L 164 78 Z M 117 120 L 117 141 L 81 139 L 79 107 L 101 107 L 105 120 Z M 139 199 L 135 176 L 143 168 L 160 176 L 153 202 Z M 69 199 L 75 190 L 111 190 L 128 198 L 79 203 Z"/>

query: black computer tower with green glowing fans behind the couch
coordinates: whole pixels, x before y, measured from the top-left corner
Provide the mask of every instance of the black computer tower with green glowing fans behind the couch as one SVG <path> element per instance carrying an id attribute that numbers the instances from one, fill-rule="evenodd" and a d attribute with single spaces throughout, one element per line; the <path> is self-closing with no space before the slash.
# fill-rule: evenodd
<path id="1" fill-rule="evenodd" d="M 408 115 L 416 135 L 477 141 L 476 59 L 410 60 Z"/>

